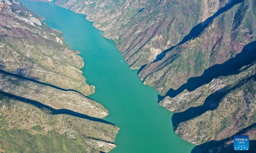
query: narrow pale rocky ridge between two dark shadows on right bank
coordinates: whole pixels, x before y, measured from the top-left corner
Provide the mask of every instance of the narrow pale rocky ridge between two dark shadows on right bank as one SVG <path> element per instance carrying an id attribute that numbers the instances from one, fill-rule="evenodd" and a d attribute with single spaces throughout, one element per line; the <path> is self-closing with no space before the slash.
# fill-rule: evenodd
<path id="1" fill-rule="evenodd" d="M 210 95 L 225 92 L 231 89 L 234 84 L 251 77 L 256 72 L 255 64 L 245 66 L 243 69 L 246 70 L 241 70 L 240 73 L 235 75 L 214 78 L 210 83 L 204 84 L 194 91 L 184 90 L 173 98 L 166 96 L 159 102 L 159 105 L 174 113 L 184 112 L 190 107 L 202 106 Z"/>

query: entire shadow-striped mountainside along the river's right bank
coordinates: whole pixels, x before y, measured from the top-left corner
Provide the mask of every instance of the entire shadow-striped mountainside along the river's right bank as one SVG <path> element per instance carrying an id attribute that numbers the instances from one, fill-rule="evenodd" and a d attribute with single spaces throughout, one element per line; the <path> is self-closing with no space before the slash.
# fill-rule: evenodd
<path id="1" fill-rule="evenodd" d="M 143 84 L 162 95 L 159 104 L 174 112 L 182 139 L 202 152 L 232 152 L 237 134 L 255 140 L 254 0 L 55 4 L 86 14 L 103 37 L 116 42 Z"/>

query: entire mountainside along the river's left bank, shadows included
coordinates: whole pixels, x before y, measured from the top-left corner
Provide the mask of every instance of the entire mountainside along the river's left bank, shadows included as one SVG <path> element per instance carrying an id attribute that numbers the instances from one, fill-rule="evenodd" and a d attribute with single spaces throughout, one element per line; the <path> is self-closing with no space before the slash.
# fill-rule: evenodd
<path id="1" fill-rule="evenodd" d="M 0 152 L 108 152 L 119 128 L 86 97 L 78 51 L 43 17 L 0 2 Z"/>

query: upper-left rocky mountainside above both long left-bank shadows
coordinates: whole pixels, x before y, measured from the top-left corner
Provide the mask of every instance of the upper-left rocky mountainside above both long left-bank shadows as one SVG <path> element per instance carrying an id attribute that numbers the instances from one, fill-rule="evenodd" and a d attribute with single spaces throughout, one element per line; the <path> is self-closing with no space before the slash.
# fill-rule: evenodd
<path id="1" fill-rule="evenodd" d="M 79 70 L 83 59 L 67 47 L 60 31 L 42 25 L 21 4 L 1 3 L 0 14 L 1 69 L 84 95 L 94 93 Z"/>

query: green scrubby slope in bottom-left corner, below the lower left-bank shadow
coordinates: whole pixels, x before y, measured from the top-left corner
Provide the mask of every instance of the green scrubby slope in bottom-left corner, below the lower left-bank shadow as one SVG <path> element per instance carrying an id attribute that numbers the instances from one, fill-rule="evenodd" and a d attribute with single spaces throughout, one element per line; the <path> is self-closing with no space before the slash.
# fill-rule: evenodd
<path id="1" fill-rule="evenodd" d="M 108 152 L 118 127 L 44 108 L 0 94 L 1 152 Z M 54 144 L 54 145 L 53 145 Z"/>

